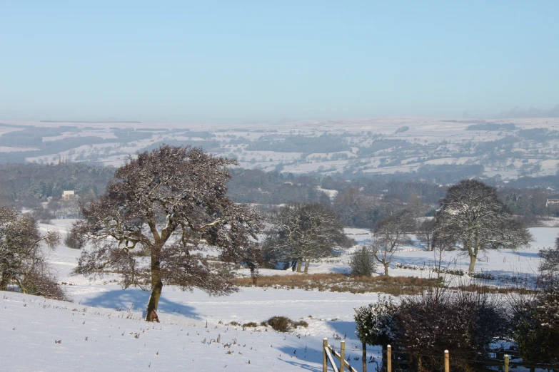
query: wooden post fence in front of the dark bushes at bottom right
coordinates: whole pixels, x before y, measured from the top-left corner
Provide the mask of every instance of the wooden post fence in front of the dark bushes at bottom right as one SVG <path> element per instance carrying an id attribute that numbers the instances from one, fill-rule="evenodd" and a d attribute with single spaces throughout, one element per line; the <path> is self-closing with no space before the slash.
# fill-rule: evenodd
<path id="1" fill-rule="evenodd" d="M 334 372 L 358 372 L 353 368 L 348 361 L 345 360 L 346 341 L 341 341 L 340 353 L 333 350 L 333 346 L 328 346 L 328 339 L 323 339 L 323 358 L 322 358 L 322 371 L 328 372 L 328 364 Z M 409 354 L 393 351 L 390 345 L 386 346 L 383 350 L 383 369 L 386 372 L 409 371 L 410 362 Z M 513 355 L 500 353 L 496 359 L 480 359 L 475 361 L 468 361 L 475 363 L 475 371 L 495 371 L 489 369 L 490 367 L 497 367 L 496 371 L 510 372 L 510 368 L 523 367 L 529 369 L 530 372 L 535 371 L 550 371 L 559 372 L 559 365 L 556 364 L 543 364 L 543 363 L 525 363 L 512 361 Z M 444 368 L 445 372 L 450 372 L 450 353 L 445 350 L 441 356 L 428 356 L 436 358 L 440 361 L 440 367 Z M 512 358 L 511 358 L 512 357 Z M 339 367 L 336 365 L 336 359 L 339 361 Z M 456 360 L 455 360 L 456 361 Z M 363 360 L 363 372 L 366 371 L 366 359 Z"/>

